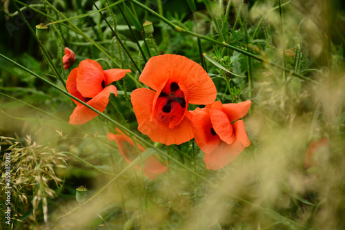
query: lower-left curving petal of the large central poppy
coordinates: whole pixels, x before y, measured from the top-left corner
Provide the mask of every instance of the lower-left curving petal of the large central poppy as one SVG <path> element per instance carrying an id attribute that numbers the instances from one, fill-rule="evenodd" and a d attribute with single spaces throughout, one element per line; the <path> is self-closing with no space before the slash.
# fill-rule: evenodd
<path id="1" fill-rule="evenodd" d="M 133 90 L 130 95 L 135 117 L 137 117 L 139 124 L 138 130 L 148 135 L 153 142 L 160 142 L 166 145 L 181 144 L 192 139 L 194 134 L 190 119 L 187 117 L 184 117 L 174 128 L 168 128 L 166 124 L 157 119 L 157 116 L 150 120 L 155 94 L 155 91 L 148 88 L 138 88 Z"/>

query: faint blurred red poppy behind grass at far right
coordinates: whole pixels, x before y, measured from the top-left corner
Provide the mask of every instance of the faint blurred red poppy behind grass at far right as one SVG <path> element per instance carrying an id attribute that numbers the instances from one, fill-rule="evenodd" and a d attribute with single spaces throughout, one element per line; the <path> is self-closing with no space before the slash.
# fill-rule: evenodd
<path id="1" fill-rule="evenodd" d="M 304 159 L 304 169 L 311 168 L 317 164 L 317 153 L 322 152 L 322 148 L 327 148 L 328 139 L 321 138 L 314 140 L 306 149 L 306 157 Z M 324 149 L 325 150 L 325 149 Z"/>

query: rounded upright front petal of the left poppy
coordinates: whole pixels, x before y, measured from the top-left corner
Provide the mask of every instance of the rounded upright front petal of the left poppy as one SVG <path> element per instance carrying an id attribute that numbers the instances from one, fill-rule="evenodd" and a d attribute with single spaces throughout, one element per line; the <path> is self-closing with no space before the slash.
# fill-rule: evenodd
<path id="1" fill-rule="evenodd" d="M 104 77 L 103 68 L 97 61 L 86 59 L 80 62 L 77 89 L 83 97 L 95 97 L 103 90 L 105 83 L 106 77 Z"/>

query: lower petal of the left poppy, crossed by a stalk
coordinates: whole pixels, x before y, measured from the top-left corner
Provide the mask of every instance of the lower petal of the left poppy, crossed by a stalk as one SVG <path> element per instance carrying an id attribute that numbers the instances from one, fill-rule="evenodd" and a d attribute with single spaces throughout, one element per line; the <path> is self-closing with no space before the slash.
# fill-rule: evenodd
<path id="1" fill-rule="evenodd" d="M 92 106 L 93 108 L 96 108 L 97 111 L 103 113 L 109 102 L 109 95 L 111 92 L 117 95 L 117 89 L 115 86 L 110 85 L 104 88 L 104 90 L 102 90 L 101 93 L 96 95 L 96 97 L 90 99 L 90 101 L 88 101 L 87 104 Z M 69 124 L 85 124 L 91 119 L 97 117 L 97 115 L 98 114 L 90 110 L 90 108 L 80 105 L 77 106 L 77 108 L 75 108 L 75 111 L 73 111 L 72 115 L 70 115 Z"/>

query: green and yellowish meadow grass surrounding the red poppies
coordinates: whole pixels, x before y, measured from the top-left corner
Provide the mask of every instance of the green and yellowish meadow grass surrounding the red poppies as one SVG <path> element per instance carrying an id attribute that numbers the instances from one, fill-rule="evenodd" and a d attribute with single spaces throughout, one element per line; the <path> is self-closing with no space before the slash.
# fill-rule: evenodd
<path id="1" fill-rule="evenodd" d="M 32 28 L 63 16 L 70 19 L 49 26 L 43 46 L 51 63 L 14 2 L 19 8 L 30 4 L 22 10 Z M 207 171 L 204 153 L 193 141 L 156 143 L 198 176 L 169 160 L 168 172 L 155 180 L 130 170 L 108 184 L 128 167 L 115 142 L 106 137 L 115 126 L 100 116 L 81 126 L 69 125 L 75 108 L 70 98 L 1 58 L 1 188 L 6 153 L 12 153 L 12 225 L 1 228 L 344 229 L 344 3 L 205 0 L 195 1 L 193 14 L 188 1 L 143 1 L 166 19 L 162 21 L 135 1 L 125 2 L 127 8 L 95 2 L 106 8 L 101 12 L 117 39 L 92 1 L 3 1 L 0 53 L 62 89 L 57 75 L 66 81 L 70 73 L 61 64 L 66 46 L 76 55 L 72 68 L 83 59 L 97 59 L 103 69 L 130 68 L 132 78 L 117 82 L 121 93 L 110 96 L 105 114 L 139 135 L 128 96 L 138 87 L 133 79 L 150 56 L 184 55 L 206 66 L 217 100 L 253 102 L 244 117 L 250 146 L 224 169 Z M 154 40 L 137 30 L 135 20 L 152 21 Z M 214 41 L 204 37 L 199 46 L 197 37 L 167 23 Z M 243 52 L 222 46 L 223 41 Z M 320 138 L 327 144 L 315 149 L 306 167 L 308 146 Z M 79 205 L 75 193 L 81 185 L 88 198 L 98 195 Z M 0 216 L 6 222 L 3 212 Z"/>

